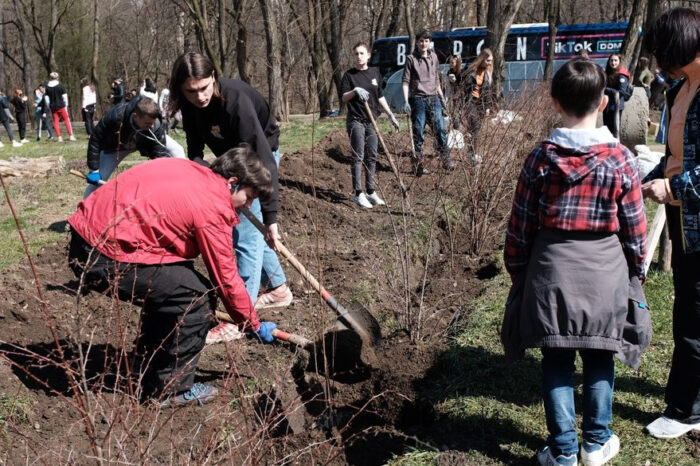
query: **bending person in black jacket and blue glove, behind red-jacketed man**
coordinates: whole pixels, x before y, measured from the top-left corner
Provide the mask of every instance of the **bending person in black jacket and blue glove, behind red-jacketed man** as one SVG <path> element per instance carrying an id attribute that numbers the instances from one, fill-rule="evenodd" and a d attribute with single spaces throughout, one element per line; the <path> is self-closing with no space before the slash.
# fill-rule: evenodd
<path id="1" fill-rule="evenodd" d="M 87 150 L 88 187 L 83 199 L 135 150 L 152 159 L 185 158 L 182 146 L 165 134 L 158 104 L 148 97 L 139 96 L 113 107 L 93 128 Z"/>

